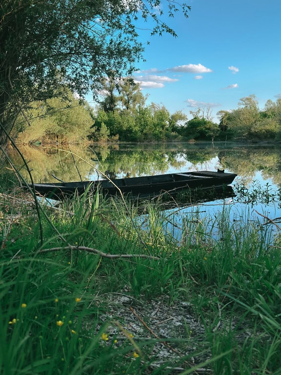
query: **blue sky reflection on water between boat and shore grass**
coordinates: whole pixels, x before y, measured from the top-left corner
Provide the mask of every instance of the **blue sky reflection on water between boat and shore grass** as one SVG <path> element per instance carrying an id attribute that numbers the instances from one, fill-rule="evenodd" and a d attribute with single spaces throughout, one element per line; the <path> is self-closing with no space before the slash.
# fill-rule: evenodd
<path id="1" fill-rule="evenodd" d="M 167 212 L 166 212 L 167 214 Z M 257 204 L 255 208 L 248 205 L 242 205 L 235 198 L 226 198 L 210 203 L 199 203 L 193 206 L 182 208 L 173 208 L 168 211 L 168 220 L 165 221 L 166 233 L 172 233 L 173 237 L 180 243 L 184 242 L 184 236 L 192 232 L 186 229 L 186 224 L 193 223 L 198 225 L 199 233 L 202 231 L 200 224 L 207 236 L 216 240 L 223 241 L 223 232 L 225 220 L 227 220 L 226 228 L 232 228 L 232 233 L 250 232 L 251 226 L 259 229 L 260 233 L 264 233 L 264 240 L 268 246 L 273 243 L 274 236 L 279 233 L 277 227 L 267 218 L 274 219 L 280 216 L 280 209 L 274 205 L 267 208 L 262 204 Z M 191 225 L 192 227 L 192 225 Z M 195 229 L 196 232 L 196 229 Z M 206 239 L 209 241 L 209 238 Z M 235 238 L 233 238 L 235 242 Z"/>

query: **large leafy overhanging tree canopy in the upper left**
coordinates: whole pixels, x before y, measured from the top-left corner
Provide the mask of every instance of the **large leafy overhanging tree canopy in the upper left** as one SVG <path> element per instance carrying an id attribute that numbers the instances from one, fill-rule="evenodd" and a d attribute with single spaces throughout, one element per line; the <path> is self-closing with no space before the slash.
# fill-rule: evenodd
<path id="1" fill-rule="evenodd" d="M 163 1 L 169 14 L 178 10 L 176 1 Z M 105 75 L 131 75 L 143 53 L 139 18 L 154 21 L 152 34 L 175 35 L 161 21 L 161 5 L 159 0 L 1 1 L 0 138 L 31 101 L 61 95 L 64 87 L 83 97 L 89 87 L 98 90 Z M 190 7 L 180 8 L 187 17 Z"/>

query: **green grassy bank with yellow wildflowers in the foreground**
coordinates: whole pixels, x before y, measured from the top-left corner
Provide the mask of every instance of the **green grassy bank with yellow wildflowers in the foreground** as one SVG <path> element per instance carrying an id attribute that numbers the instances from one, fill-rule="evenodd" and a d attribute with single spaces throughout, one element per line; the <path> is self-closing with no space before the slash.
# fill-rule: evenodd
<path id="1" fill-rule="evenodd" d="M 1 373 L 280 374 L 278 228 L 173 212 L 2 194 Z"/>

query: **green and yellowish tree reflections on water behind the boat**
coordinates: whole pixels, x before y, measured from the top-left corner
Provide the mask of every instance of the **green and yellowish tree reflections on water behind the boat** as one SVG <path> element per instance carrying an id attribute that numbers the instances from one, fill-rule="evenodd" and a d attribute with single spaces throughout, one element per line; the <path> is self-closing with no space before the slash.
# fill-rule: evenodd
<path id="1" fill-rule="evenodd" d="M 55 148 L 22 147 L 25 159 L 29 161 L 35 182 L 55 182 L 51 174 L 63 181 L 78 181 L 79 174 L 69 152 Z M 244 183 L 251 183 L 257 171 L 264 179 L 271 178 L 281 184 L 281 157 L 278 146 L 208 147 L 189 144 L 146 144 L 92 146 L 91 149 L 71 146 L 82 179 L 95 174 L 95 168 L 109 176 L 140 176 L 165 173 L 169 168 L 182 170 L 189 162 L 196 169 L 198 164 L 218 157 L 221 167 L 237 173 Z M 11 158 L 20 167 L 23 165 L 16 151 Z M 89 163 L 89 164 L 88 164 Z M 91 167 L 92 166 L 92 167 Z M 27 172 L 21 170 L 24 177 Z"/>

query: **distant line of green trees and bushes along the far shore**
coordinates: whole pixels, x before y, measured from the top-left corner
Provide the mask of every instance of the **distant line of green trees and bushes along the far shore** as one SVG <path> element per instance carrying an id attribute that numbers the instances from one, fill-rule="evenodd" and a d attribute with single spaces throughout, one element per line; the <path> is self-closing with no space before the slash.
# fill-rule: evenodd
<path id="1" fill-rule="evenodd" d="M 146 105 L 140 85 L 127 78 L 104 80 L 100 102 L 95 108 L 76 99 L 69 91 L 63 97 L 33 103 L 29 121 L 19 116 L 14 127 L 18 143 L 81 143 L 127 141 L 246 140 L 281 139 L 281 99 L 268 100 L 259 109 L 255 95 L 241 98 L 232 111 L 217 113 L 213 122 L 209 107 L 171 114 L 164 105 Z"/>

